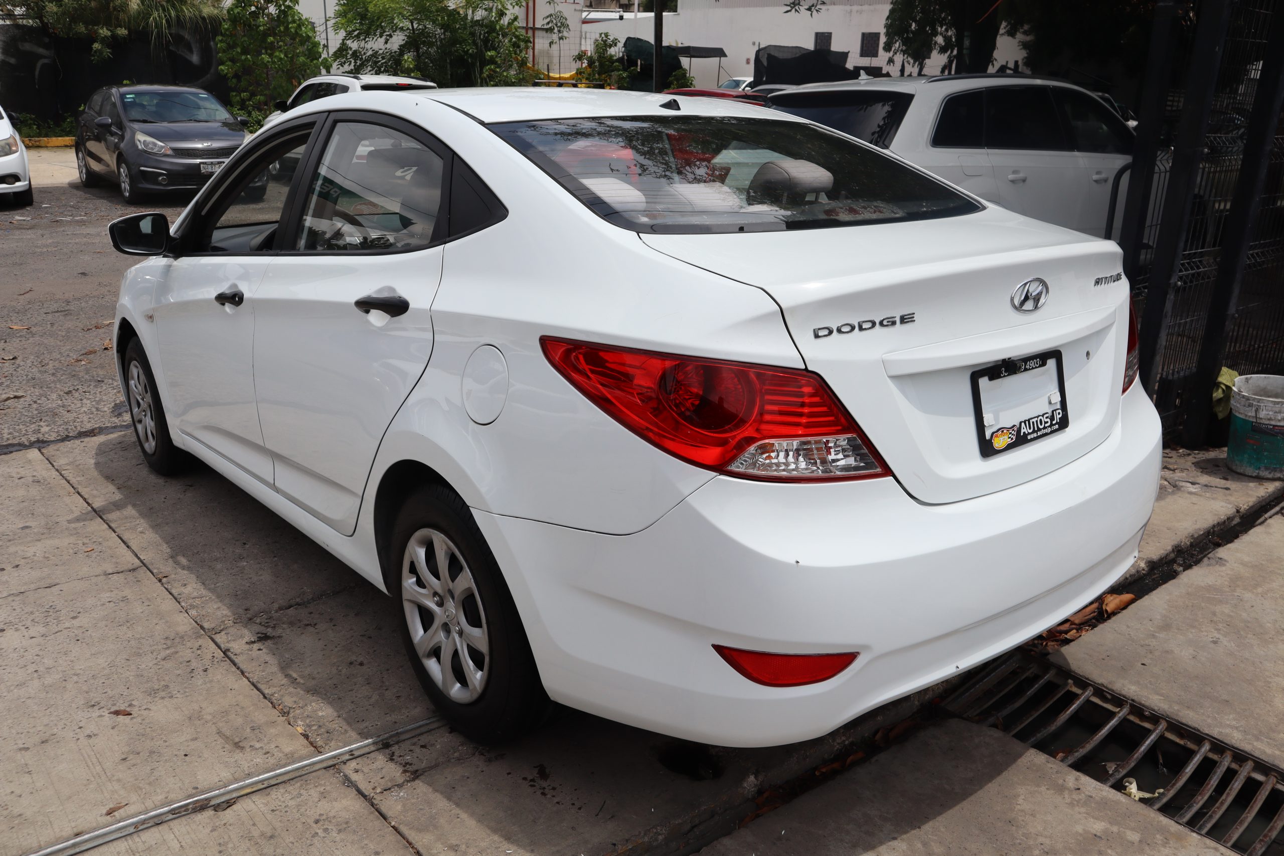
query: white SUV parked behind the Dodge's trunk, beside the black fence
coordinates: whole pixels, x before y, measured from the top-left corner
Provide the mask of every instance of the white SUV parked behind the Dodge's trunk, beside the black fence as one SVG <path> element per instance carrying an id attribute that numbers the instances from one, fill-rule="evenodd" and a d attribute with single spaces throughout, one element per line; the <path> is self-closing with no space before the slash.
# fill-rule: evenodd
<path id="1" fill-rule="evenodd" d="M 1132 130 L 1113 109 L 1050 78 L 885 77 L 800 86 L 770 104 L 890 149 L 1018 214 L 1097 237 L 1115 175 L 1132 159 Z"/>

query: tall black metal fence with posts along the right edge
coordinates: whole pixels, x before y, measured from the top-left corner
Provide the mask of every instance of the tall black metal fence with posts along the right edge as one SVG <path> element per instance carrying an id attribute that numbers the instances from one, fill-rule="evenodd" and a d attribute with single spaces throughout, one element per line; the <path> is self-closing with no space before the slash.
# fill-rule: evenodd
<path id="1" fill-rule="evenodd" d="M 1284 370 L 1284 0 L 1159 0 L 1120 243 L 1165 432 L 1222 364 Z"/>

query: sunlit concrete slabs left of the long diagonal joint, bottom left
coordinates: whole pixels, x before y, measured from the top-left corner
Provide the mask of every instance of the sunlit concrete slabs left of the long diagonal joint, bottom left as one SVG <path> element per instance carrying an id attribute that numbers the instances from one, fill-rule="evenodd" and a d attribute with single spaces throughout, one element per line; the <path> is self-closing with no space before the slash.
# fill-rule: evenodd
<path id="1" fill-rule="evenodd" d="M 39 452 L 0 484 L 0 853 L 315 755 Z M 408 852 L 333 771 L 180 823 L 118 852 Z"/>

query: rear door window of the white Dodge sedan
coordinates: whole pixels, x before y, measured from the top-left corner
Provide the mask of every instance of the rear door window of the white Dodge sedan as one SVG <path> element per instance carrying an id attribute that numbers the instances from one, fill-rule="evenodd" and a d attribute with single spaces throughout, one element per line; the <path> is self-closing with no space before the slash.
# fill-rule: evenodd
<path id="1" fill-rule="evenodd" d="M 443 167 L 435 151 L 399 131 L 336 123 L 308 180 L 297 249 L 428 246 L 442 205 Z"/>

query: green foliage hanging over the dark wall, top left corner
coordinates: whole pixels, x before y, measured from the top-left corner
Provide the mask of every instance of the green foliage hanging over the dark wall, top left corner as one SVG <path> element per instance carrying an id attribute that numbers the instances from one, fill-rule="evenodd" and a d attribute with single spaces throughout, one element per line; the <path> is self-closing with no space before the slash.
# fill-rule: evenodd
<path id="1" fill-rule="evenodd" d="M 98 63 L 132 33 L 168 45 L 171 32 L 212 26 L 222 19 L 223 8 L 220 0 L 0 0 L 0 14 L 30 21 L 46 36 L 89 39 L 90 56 Z"/>

